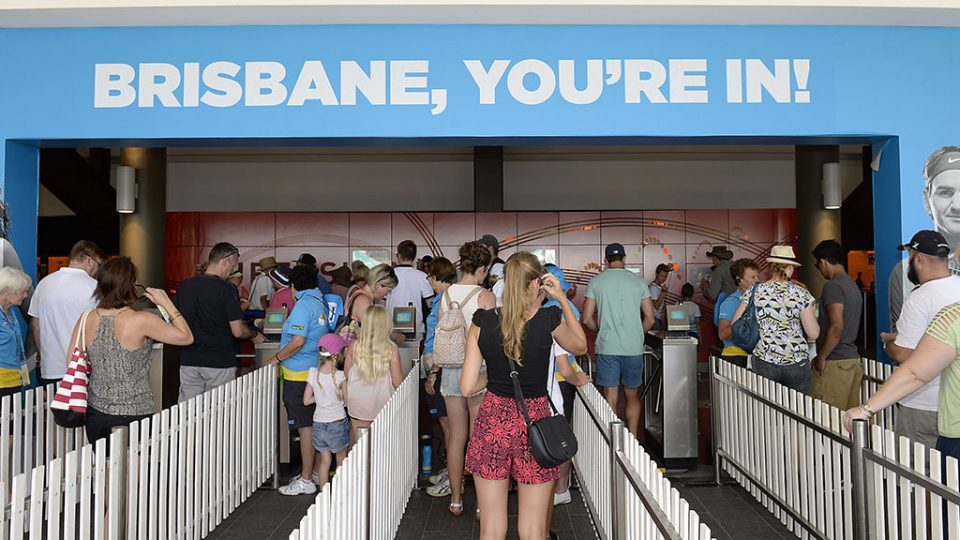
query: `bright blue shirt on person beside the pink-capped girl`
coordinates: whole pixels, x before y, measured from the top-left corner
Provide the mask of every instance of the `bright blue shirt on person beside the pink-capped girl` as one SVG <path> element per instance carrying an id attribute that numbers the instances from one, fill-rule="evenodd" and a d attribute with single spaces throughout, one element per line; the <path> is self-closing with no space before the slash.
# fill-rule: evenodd
<path id="1" fill-rule="evenodd" d="M 293 336 L 303 336 L 306 342 L 290 358 L 284 358 L 283 378 L 287 381 L 306 381 L 310 368 L 317 367 L 320 338 L 330 331 L 327 326 L 327 303 L 319 289 L 300 291 L 295 295 L 297 303 L 283 323 L 280 334 L 280 349 L 290 343 Z"/>

